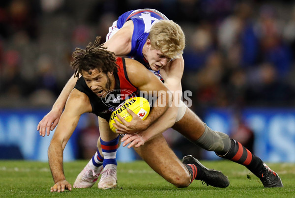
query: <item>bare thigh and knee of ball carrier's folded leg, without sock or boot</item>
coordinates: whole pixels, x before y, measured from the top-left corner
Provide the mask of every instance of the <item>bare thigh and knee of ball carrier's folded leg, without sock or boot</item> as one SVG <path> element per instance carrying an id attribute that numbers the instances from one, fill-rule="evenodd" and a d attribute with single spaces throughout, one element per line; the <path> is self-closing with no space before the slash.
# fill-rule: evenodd
<path id="1" fill-rule="evenodd" d="M 168 146 L 162 134 L 134 150 L 147 164 L 168 182 L 178 188 L 187 187 L 191 176 L 184 164 Z"/>

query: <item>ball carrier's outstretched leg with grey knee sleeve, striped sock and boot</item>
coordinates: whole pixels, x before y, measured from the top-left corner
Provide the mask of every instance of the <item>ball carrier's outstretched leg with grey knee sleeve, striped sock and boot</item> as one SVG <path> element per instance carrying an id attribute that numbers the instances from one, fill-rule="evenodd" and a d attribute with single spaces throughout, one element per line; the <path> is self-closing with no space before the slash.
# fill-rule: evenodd
<path id="1" fill-rule="evenodd" d="M 218 131 L 210 129 L 189 108 L 182 119 L 173 126 L 180 134 L 196 145 L 214 151 L 219 157 L 229 159 L 245 166 L 260 178 L 265 187 L 283 187 L 280 177 L 241 143 Z"/>

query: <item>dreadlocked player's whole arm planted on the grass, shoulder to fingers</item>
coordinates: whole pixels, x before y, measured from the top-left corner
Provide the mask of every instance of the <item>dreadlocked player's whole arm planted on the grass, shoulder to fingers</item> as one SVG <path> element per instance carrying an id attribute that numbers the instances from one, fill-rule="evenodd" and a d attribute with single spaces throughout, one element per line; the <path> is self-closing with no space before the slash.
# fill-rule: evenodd
<path id="1" fill-rule="evenodd" d="M 73 134 L 80 116 L 91 111 L 92 108 L 87 95 L 74 89 L 69 95 L 65 109 L 60 116 L 59 125 L 48 148 L 48 162 L 55 183 L 51 187 L 51 192 L 63 192 L 65 189 L 71 191 L 72 189 L 63 173 L 63 150 Z"/>

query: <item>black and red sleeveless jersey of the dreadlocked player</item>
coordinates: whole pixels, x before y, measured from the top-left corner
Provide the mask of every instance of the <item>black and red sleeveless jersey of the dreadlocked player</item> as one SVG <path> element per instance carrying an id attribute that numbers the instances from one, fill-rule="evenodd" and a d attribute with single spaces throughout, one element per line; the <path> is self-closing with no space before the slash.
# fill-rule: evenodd
<path id="1" fill-rule="evenodd" d="M 86 84 L 83 77 L 80 77 L 74 88 L 85 93 L 90 100 L 92 113 L 109 120 L 114 109 L 125 99 L 138 94 L 137 87 L 129 81 L 125 59 L 117 57 L 118 73 L 114 72 L 115 89 L 108 91 L 102 98 L 98 97 Z"/>

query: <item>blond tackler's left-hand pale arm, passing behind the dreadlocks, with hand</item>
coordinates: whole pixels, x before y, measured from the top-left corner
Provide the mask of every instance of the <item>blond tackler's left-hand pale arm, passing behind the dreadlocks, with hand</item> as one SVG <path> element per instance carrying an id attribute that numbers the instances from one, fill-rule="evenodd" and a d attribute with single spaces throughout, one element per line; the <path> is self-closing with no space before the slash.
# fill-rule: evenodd
<path id="1" fill-rule="evenodd" d="M 131 39 L 133 34 L 133 22 L 127 21 L 122 28 L 118 30 L 108 41 L 104 43 L 104 47 L 116 56 L 124 56 L 131 52 Z M 53 131 L 59 123 L 59 117 L 62 113 L 66 100 L 73 90 L 77 78 L 72 76 L 67 84 L 62 89 L 57 101 L 54 103 L 52 110 L 43 117 L 37 126 L 40 136 L 49 136 L 50 131 Z"/>

